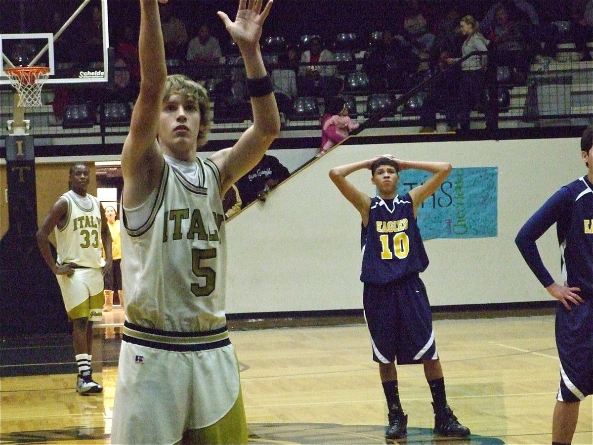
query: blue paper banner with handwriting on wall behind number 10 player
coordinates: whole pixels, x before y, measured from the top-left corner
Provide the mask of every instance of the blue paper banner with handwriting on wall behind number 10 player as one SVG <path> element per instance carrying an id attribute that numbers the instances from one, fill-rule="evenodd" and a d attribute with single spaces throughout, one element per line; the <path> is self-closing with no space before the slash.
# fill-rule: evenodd
<path id="1" fill-rule="evenodd" d="M 404 170 L 400 195 L 424 183 L 432 173 Z M 418 209 L 422 238 L 487 238 L 498 236 L 498 168 L 453 169 Z"/>

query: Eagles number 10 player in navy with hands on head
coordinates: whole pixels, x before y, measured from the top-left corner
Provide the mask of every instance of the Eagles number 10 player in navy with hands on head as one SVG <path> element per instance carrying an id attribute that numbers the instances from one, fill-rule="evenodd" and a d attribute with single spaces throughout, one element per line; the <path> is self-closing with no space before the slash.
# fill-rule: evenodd
<path id="1" fill-rule="evenodd" d="M 371 182 L 378 196 L 358 190 L 349 174 L 371 170 Z M 420 186 L 398 195 L 399 172 L 416 169 L 432 173 Z M 428 266 L 420 230 L 416 223 L 419 206 L 436 192 L 451 173 L 444 162 L 404 161 L 381 155 L 365 161 L 334 167 L 329 175 L 342 195 L 361 215 L 363 306 L 371 334 L 373 360 L 388 407 L 389 425 L 385 438 L 407 434 L 407 415 L 401 408 L 397 364 L 424 366 L 435 412 L 436 434 L 469 436 L 470 430 L 457 420 L 447 404 L 445 380 L 436 351 L 431 307 L 420 272 Z"/>

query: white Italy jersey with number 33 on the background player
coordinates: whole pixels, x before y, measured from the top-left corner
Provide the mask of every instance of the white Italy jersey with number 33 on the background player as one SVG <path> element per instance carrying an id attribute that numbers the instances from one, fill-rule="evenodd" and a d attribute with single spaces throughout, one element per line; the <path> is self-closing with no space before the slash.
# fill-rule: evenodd
<path id="1" fill-rule="evenodd" d="M 95 196 L 80 196 L 68 190 L 61 198 L 68 202 L 66 224 L 54 230 L 58 263 L 75 263 L 85 268 L 102 268 L 101 206 Z"/>

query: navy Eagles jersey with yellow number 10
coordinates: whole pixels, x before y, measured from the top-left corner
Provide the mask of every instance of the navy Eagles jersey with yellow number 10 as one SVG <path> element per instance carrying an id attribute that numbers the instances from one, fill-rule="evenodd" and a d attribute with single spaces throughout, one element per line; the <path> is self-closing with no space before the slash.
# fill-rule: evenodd
<path id="1" fill-rule="evenodd" d="M 371 199 L 369 222 L 361 231 L 361 281 L 385 284 L 419 274 L 428 266 L 409 193 Z"/>

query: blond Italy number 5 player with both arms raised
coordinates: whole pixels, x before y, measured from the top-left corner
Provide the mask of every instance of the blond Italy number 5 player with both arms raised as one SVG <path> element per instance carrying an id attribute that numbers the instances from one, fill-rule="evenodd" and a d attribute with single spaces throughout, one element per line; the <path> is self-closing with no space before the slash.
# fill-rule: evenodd
<path id="1" fill-rule="evenodd" d="M 245 63 L 253 125 L 202 159 L 197 150 L 211 122 L 206 90 L 167 75 L 157 1 L 140 1 L 140 93 L 122 151 L 126 321 L 112 443 L 247 443 L 225 316 L 222 197 L 280 132 L 259 45 L 272 4 L 241 0 L 234 21 L 218 12 Z"/>

